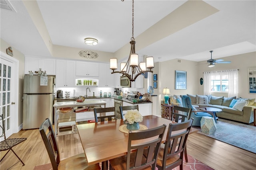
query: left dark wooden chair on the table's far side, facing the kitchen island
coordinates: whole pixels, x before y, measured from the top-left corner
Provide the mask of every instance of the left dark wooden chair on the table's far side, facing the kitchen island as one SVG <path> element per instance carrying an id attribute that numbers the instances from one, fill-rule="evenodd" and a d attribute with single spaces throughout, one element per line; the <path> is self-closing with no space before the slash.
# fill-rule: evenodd
<path id="1" fill-rule="evenodd" d="M 94 119 L 95 122 L 98 122 L 98 120 L 100 121 L 105 121 L 106 119 L 108 121 L 112 120 L 112 119 L 123 119 L 123 115 L 117 115 L 116 113 L 116 107 L 100 107 L 100 108 L 94 108 Z M 99 114 L 99 116 L 97 115 L 97 113 Z"/>

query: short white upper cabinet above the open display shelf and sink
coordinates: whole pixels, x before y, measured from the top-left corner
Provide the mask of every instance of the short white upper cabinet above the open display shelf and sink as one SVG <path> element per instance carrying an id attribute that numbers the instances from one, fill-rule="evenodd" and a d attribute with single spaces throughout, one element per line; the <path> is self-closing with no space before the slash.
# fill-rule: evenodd
<path id="1" fill-rule="evenodd" d="M 99 63 L 76 61 L 76 76 L 99 76 Z"/>

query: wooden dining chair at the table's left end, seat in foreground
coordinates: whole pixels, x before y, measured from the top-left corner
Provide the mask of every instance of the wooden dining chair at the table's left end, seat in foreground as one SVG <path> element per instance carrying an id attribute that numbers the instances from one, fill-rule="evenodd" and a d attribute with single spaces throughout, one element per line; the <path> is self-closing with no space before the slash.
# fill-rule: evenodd
<path id="1" fill-rule="evenodd" d="M 99 164 L 88 166 L 84 152 L 60 160 L 58 144 L 49 118 L 41 124 L 39 131 L 52 163 L 53 170 L 100 170 Z"/>

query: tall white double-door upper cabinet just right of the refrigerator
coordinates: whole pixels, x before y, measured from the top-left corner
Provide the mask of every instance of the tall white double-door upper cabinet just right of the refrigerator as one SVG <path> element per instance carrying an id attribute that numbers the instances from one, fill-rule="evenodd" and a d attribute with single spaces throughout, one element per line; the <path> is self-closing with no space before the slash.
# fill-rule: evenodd
<path id="1" fill-rule="evenodd" d="M 56 87 L 75 87 L 76 62 L 56 60 Z"/>

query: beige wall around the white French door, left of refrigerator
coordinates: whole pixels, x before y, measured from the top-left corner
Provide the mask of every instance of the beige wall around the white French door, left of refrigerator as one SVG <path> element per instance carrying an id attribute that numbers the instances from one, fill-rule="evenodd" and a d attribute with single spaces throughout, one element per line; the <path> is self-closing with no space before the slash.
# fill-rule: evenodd
<path id="1" fill-rule="evenodd" d="M 8 47 L 12 47 L 12 45 L 8 44 L 6 41 L 3 39 L 0 39 L 0 47 L 1 51 L 3 53 L 6 53 L 6 49 Z M 25 56 L 20 53 L 20 51 L 16 50 L 15 48 L 12 47 L 13 51 L 13 57 L 17 60 L 19 60 L 19 94 L 18 94 L 18 100 L 19 100 L 19 106 L 18 106 L 18 125 L 22 124 L 23 121 L 23 102 L 22 102 L 22 96 L 23 96 L 23 74 L 24 74 L 24 62 L 25 62 Z"/>

